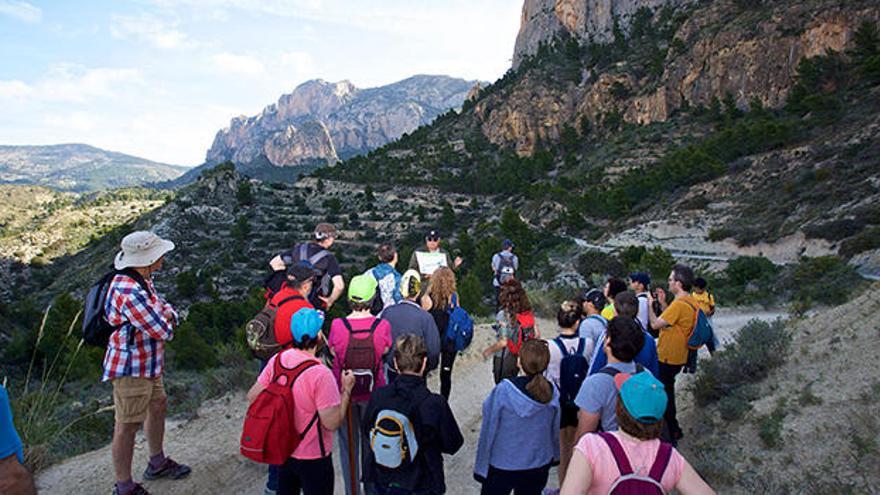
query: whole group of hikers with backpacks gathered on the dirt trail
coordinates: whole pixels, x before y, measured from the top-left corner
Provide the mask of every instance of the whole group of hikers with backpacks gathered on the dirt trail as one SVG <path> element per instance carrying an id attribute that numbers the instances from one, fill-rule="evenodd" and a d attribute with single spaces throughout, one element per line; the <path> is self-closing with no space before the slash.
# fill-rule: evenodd
<path id="1" fill-rule="evenodd" d="M 473 333 L 456 289 L 462 260 L 431 230 L 404 273 L 395 247 L 382 244 L 378 264 L 346 288 L 330 251 L 337 236 L 319 224 L 311 241 L 269 261 L 266 306 L 247 326 L 262 371 L 247 393 L 241 453 L 268 464 L 266 494 L 330 495 L 335 432 L 346 495 L 445 493 L 443 456 L 464 442 L 448 403 L 452 370 Z M 191 472 L 163 450 L 164 346 L 178 314 L 152 275 L 173 249 L 152 232 L 127 235 L 115 270 L 87 298 L 84 335 L 104 334 L 103 380 L 113 387 L 118 495 L 148 493 L 132 476 L 141 426 L 145 480 Z M 714 493 L 674 447 L 683 437 L 676 376 L 695 361 L 698 320 L 714 312 L 705 282 L 676 265 L 667 303 L 645 273 L 628 286 L 608 279 L 563 301 L 558 335 L 542 339 L 513 250 L 505 240 L 487 267 L 497 313 L 494 343 L 482 351 L 495 387 L 483 402 L 473 470 L 481 493 Z M 350 313 L 327 324 L 343 294 Z M 439 394 L 426 380 L 438 367 Z M 553 466 L 559 489 L 548 487 Z"/>

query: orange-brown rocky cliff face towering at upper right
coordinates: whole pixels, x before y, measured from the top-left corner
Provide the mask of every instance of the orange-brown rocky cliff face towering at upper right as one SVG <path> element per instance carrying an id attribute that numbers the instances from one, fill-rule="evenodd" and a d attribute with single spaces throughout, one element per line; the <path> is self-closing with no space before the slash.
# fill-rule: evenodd
<path id="1" fill-rule="evenodd" d="M 780 2 L 749 10 L 725 1 L 526 0 L 514 68 L 560 33 L 582 46 L 612 42 L 615 19 L 626 33 L 642 7 L 651 9 L 653 22 L 662 7 L 686 19 L 657 41 L 663 58 L 656 77 L 626 61 L 598 73 L 585 68 L 577 81 L 557 85 L 525 71 L 519 84 L 482 99 L 475 112 L 491 142 L 527 155 L 536 143 L 557 140 L 565 124 L 584 117 L 596 124 L 609 112 L 647 124 L 667 120 L 682 105 L 709 105 L 727 94 L 741 108 L 752 100 L 778 107 L 802 58 L 844 50 L 860 22 L 880 17 L 867 1 L 820 3 L 826 5 Z"/>

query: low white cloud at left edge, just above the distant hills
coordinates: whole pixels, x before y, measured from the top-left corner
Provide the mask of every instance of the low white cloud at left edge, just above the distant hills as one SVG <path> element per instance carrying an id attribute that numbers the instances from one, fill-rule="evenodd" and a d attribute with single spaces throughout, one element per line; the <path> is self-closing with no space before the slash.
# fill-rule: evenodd
<path id="1" fill-rule="evenodd" d="M 0 80 L 0 99 L 86 102 L 112 98 L 143 82 L 138 69 L 89 69 L 75 64 L 57 64 L 32 84 Z"/>

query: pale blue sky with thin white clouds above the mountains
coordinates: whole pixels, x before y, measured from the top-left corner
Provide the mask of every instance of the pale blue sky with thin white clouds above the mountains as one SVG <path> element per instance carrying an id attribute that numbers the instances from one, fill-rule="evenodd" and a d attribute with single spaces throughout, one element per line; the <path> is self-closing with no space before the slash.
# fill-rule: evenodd
<path id="1" fill-rule="evenodd" d="M 521 0 L 0 0 L 0 144 L 181 165 L 303 81 L 494 81 Z"/>

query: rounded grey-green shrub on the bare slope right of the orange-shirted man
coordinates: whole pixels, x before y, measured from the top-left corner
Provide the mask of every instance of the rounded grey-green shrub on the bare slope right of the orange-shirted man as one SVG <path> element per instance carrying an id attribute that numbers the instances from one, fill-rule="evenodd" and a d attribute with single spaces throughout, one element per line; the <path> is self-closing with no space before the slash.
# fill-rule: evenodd
<path id="1" fill-rule="evenodd" d="M 782 320 L 751 320 L 736 333 L 733 342 L 700 363 L 691 388 L 697 404 L 705 406 L 763 380 L 770 370 L 785 362 L 790 345 L 791 334 Z"/>

